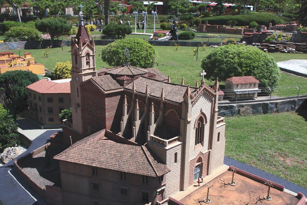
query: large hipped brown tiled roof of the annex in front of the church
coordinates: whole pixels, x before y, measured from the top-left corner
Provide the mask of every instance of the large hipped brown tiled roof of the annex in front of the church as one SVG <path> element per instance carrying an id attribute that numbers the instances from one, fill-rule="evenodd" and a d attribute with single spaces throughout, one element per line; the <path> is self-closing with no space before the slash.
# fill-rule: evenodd
<path id="1" fill-rule="evenodd" d="M 170 171 L 155 160 L 145 146 L 94 139 L 99 134 L 101 131 L 73 144 L 54 159 L 152 177 Z"/>

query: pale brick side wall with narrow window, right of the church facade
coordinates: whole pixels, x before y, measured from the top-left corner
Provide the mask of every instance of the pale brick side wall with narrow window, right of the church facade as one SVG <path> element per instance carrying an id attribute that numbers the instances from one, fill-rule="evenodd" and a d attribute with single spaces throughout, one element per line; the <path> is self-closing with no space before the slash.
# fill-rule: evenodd
<path id="1" fill-rule="evenodd" d="M 220 141 L 217 142 L 217 136 L 220 133 Z M 212 148 L 212 159 L 211 166 L 213 170 L 219 168 L 224 164 L 224 153 L 225 153 L 225 124 L 216 128 L 216 135 L 213 138 L 213 141 L 217 142 Z"/>

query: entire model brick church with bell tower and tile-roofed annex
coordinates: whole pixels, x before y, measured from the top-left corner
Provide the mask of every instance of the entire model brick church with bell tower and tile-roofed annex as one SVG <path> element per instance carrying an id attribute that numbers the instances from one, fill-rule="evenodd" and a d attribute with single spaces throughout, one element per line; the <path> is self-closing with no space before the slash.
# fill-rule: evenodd
<path id="1" fill-rule="evenodd" d="M 72 39 L 72 118 L 63 120 L 63 204 L 162 204 L 223 165 L 220 86 L 171 82 L 129 59 L 96 71 L 80 23 Z M 125 51 L 126 52 L 126 51 Z"/>

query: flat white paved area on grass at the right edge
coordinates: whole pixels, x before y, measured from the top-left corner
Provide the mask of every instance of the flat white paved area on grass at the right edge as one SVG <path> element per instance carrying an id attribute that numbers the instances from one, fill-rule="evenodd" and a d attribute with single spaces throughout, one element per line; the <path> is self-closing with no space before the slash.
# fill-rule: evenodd
<path id="1" fill-rule="evenodd" d="M 277 62 L 279 68 L 283 71 L 289 71 L 289 73 L 295 72 L 295 74 L 307 75 L 307 60 L 288 60 Z M 291 72 L 292 71 L 292 72 Z"/>

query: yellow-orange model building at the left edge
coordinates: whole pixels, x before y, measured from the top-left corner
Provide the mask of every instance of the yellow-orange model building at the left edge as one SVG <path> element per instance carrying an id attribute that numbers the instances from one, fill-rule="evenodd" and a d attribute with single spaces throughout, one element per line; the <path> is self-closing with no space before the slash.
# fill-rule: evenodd
<path id="1" fill-rule="evenodd" d="M 11 70 L 29 70 L 37 75 L 45 75 L 45 65 L 36 63 L 31 53 L 24 53 L 24 57 L 14 52 L 0 52 L 0 74 Z"/>

